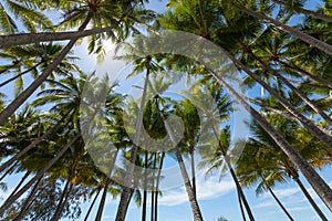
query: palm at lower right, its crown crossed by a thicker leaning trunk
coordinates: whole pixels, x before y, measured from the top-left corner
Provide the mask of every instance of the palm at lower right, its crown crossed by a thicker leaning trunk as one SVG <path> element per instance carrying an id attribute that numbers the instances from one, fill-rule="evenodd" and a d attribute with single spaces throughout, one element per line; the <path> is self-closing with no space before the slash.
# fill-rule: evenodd
<path id="1" fill-rule="evenodd" d="M 312 158 L 313 161 L 318 162 L 318 159 L 321 159 L 321 164 L 329 164 L 324 160 L 324 157 L 321 158 L 321 156 L 325 156 L 326 154 L 326 150 L 323 150 L 325 149 L 325 147 L 320 147 L 319 143 L 315 145 L 315 147 L 311 147 L 311 145 L 315 143 L 314 139 L 310 141 L 299 140 L 299 138 L 303 139 L 303 137 L 297 136 L 298 134 L 297 130 L 299 129 L 297 129 L 298 125 L 295 123 L 292 123 L 288 119 L 282 119 L 281 117 L 277 117 L 273 115 L 270 115 L 269 117 L 270 120 L 274 123 L 273 125 L 276 126 L 276 128 L 278 128 L 280 133 L 282 133 L 287 137 L 288 140 L 294 144 L 294 146 L 298 146 L 299 151 L 303 155 L 303 157 L 308 158 L 309 161 L 311 161 L 310 158 Z M 241 169 L 239 170 L 239 172 L 243 170 L 243 176 L 240 175 L 240 177 L 243 177 L 245 180 L 248 180 L 247 186 L 250 185 L 250 182 L 252 183 L 257 180 L 262 179 L 262 182 L 259 185 L 259 188 L 257 190 L 258 192 L 260 192 L 261 189 L 263 188 L 268 189 L 269 187 L 274 186 L 276 182 L 278 181 L 284 182 L 286 177 L 290 176 L 299 185 L 299 187 L 301 188 L 301 190 L 303 191 L 303 193 L 305 194 L 305 197 L 308 198 L 309 202 L 312 204 L 314 210 L 318 212 L 320 218 L 322 220 L 328 220 L 322 213 L 322 211 L 319 209 L 319 207 L 315 204 L 313 199 L 310 197 L 308 191 L 305 190 L 304 186 L 299 179 L 298 170 L 295 169 L 293 164 L 289 160 L 289 158 L 283 152 L 280 151 L 276 143 L 271 141 L 269 135 L 262 129 L 262 127 L 260 127 L 257 123 L 252 123 L 250 126 L 253 136 L 256 136 L 257 138 L 250 139 L 249 141 L 250 146 L 248 148 L 251 148 L 252 151 L 255 152 L 253 154 L 255 157 L 252 159 L 258 160 L 258 162 L 256 162 L 255 165 L 257 165 L 259 168 L 255 168 L 253 165 L 253 169 L 258 169 L 259 172 L 257 172 L 257 170 L 256 172 L 252 171 L 250 172 L 250 170 L 252 169 L 250 168 L 250 166 L 249 167 L 247 166 L 247 172 L 246 172 L 246 168 L 245 168 L 246 166 L 240 165 Z M 301 144 L 301 146 L 299 146 L 299 144 Z M 319 148 L 319 150 L 313 150 L 314 148 Z M 239 161 L 239 164 L 241 162 L 247 164 L 248 161 L 247 162 Z"/>

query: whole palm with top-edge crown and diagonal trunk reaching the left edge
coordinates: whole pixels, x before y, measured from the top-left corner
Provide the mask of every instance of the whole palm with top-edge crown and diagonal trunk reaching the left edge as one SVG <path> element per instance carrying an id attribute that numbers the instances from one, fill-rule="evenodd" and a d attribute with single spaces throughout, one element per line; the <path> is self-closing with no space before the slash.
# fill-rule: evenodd
<path id="1" fill-rule="evenodd" d="M 138 1 L 141 2 L 141 1 Z M 135 13 L 131 14 L 135 10 L 136 1 L 118 1 L 116 3 L 108 1 L 86 1 L 83 4 L 66 4 L 60 2 L 60 7 L 63 10 L 69 10 L 65 20 L 62 22 L 63 25 L 68 28 L 74 28 L 80 24 L 77 31 L 83 31 L 92 22 L 93 27 L 108 25 L 110 23 L 118 23 L 123 21 L 125 17 L 126 22 L 120 23 L 117 29 L 113 29 L 110 34 L 114 39 L 114 33 L 118 34 L 118 39 L 125 39 L 128 34 L 128 29 L 133 27 L 133 20 L 131 15 L 137 15 Z M 116 39 L 116 40 L 118 40 Z M 73 38 L 63 48 L 61 53 L 53 60 L 53 62 L 43 71 L 41 75 L 27 88 L 24 90 L 11 104 L 9 104 L 0 114 L 0 125 L 8 120 L 8 117 L 12 115 L 29 97 L 30 95 L 50 76 L 54 69 L 62 62 L 62 60 L 68 55 L 71 49 L 74 46 L 79 36 Z M 102 41 L 100 35 L 93 35 L 90 42 L 91 52 L 100 52 L 102 46 L 96 46 L 98 42 Z"/>

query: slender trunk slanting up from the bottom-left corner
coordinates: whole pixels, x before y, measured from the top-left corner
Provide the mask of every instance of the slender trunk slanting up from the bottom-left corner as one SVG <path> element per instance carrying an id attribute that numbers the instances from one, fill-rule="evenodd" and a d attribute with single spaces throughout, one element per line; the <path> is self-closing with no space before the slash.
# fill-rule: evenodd
<path id="1" fill-rule="evenodd" d="M 63 154 L 81 137 L 81 134 L 76 134 L 62 149 L 58 151 L 54 158 L 52 158 L 43 169 L 41 169 L 24 187 L 22 187 L 14 196 L 8 198 L 0 208 L 0 214 L 4 212 L 19 197 L 21 197 L 27 190 L 63 156 Z"/>

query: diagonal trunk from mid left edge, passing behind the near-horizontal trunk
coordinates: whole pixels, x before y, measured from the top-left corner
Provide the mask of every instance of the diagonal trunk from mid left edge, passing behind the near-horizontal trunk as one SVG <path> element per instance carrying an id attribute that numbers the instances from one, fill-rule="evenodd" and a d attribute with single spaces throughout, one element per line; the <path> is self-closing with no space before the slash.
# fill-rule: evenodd
<path id="1" fill-rule="evenodd" d="M 79 31 L 83 31 L 92 19 L 92 13 L 89 13 L 85 21 L 79 28 Z M 35 92 L 35 90 L 50 76 L 53 70 L 62 62 L 66 54 L 74 46 L 79 38 L 72 39 L 61 51 L 61 53 L 53 60 L 53 62 L 43 71 L 41 75 L 33 81 L 33 83 L 24 90 L 13 102 L 11 102 L 0 113 L 0 125 L 3 125 L 6 120 Z"/>

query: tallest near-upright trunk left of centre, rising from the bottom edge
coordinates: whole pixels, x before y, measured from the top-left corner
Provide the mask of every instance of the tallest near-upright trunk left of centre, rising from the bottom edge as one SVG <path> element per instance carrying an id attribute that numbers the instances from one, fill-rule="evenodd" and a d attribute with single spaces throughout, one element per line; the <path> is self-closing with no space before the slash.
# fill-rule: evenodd
<path id="1" fill-rule="evenodd" d="M 149 77 L 149 72 L 151 72 L 151 60 L 152 60 L 152 57 L 149 55 L 147 55 L 146 56 L 147 70 L 146 70 L 145 82 L 144 82 L 144 87 L 143 87 L 143 95 L 142 95 L 142 101 L 141 101 L 141 106 L 139 106 L 139 113 L 138 113 L 137 123 L 136 123 L 136 130 L 135 130 L 136 134 L 134 137 L 133 147 L 132 147 L 132 151 L 131 151 L 131 164 L 129 164 L 127 172 L 126 172 L 124 189 L 121 194 L 115 221 L 125 220 L 125 217 L 127 213 L 126 206 L 129 202 L 132 178 L 133 178 L 134 165 L 135 165 L 136 154 L 137 154 L 136 144 L 138 144 L 138 139 L 141 136 L 141 128 L 142 128 L 142 124 L 143 124 L 143 112 L 144 112 L 144 105 L 145 105 L 145 99 L 146 99 L 148 77 Z"/>

